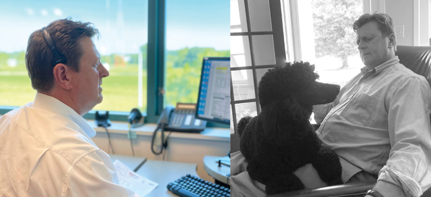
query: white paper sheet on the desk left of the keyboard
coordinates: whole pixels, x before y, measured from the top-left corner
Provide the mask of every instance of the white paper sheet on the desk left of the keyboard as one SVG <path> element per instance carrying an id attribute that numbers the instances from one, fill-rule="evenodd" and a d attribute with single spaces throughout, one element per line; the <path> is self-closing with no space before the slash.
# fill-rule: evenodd
<path id="1" fill-rule="evenodd" d="M 132 189 L 141 197 L 148 194 L 158 185 L 156 182 L 137 174 L 118 159 L 114 161 L 114 166 L 117 170 L 120 185 Z"/>

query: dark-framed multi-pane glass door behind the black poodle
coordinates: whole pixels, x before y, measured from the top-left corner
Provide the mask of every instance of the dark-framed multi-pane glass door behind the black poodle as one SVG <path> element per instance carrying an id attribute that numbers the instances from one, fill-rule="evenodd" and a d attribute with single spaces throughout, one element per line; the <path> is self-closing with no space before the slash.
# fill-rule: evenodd
<path id="1" fill-rule="evenodd" d="M 237 121 L 260 113 L 258 84 L 286 63 L 280 1 L 231 0 L 231 133 Z"/>

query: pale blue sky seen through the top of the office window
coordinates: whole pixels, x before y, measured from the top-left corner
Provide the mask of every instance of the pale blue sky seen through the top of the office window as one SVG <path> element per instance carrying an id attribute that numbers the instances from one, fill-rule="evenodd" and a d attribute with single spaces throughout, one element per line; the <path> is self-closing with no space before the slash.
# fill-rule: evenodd
<path id="1" fill-rule="evenodd" d="M 90 21 L 100 53 L 136 53 L 147 42 L 147 0 L 2 0 L 0 51 L 25 50 L 29 35 L 59 18 Z M 230 47 L 229 0 L 166 0 L 166 48 Z"/>

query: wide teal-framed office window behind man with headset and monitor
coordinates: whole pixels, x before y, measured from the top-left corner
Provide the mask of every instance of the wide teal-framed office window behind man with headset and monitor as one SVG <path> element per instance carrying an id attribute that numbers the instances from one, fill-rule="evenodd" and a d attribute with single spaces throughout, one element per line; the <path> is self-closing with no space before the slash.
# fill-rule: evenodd
<path id="1" fill-rule="evenodd" d="M 0 20 L 9 30 L 0 32 L 0 114 L 34 99 L 24 58 L 29 35 L 71 16 L 100 31 L 94 42 L 110 76 L 94 110 L 126 120 L 137 107 L 156 122 L 166 104 L 197 101 L 203 56 L 230 54 L 228 9 L 228 2 L 201 0 L 2 1 Z"/>

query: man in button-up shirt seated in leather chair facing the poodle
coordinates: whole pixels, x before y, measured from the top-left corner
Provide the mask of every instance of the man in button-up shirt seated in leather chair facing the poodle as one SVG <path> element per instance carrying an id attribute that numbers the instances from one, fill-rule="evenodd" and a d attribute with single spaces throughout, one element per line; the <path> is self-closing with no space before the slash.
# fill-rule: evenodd
<path id="1" fill-rule="evenodd" d="M 353 29 L 366 66 L 333 103 L 314 106 L 316 132 L 340 156 L 344 182 L 377 181 L 367 197 L 420 196 L 431 186 L 429 84 L 399 63 L 389 15 L 363 14 Z"/>

